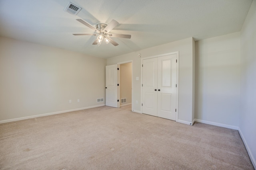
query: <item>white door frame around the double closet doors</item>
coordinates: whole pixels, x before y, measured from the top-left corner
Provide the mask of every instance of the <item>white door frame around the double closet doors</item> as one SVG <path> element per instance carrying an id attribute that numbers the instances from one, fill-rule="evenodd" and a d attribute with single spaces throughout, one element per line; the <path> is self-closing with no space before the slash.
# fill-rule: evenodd
<path id="1" fill-rule="evenodd" d="M 152 58 L 156 58 L 156 57 L 163 57 L 163 56 L 166 56 L 166 55 L 172 55 L 172 54 L 176 54 L 177 56 L 177 76 L 176 76 L 176 82 L 177 82 L 177 88 L 176 88 L 176 121 L 178 121 L 178 111 L 179 111 L 179 51 L 176 51 L 176 52 L 172 52 L 172 53 L 166 53 L 166 54 L 160 54 L 160 55 L 154 55 L 154 56 L 150 56 L 150 57 L 145 57 L 145 58 L 142 58 L 141 59 L 141 64 L 143 63 L 143 60 L 146 60 L 146 59 L 152 59 Z M 140 70 L 140 101 L 142 102 L 142 66 L 141 66 L 141 70 Z M 142 105 L 140 106 L 140 110 L 141 110 L 141 113 L 142 113 Z"/>

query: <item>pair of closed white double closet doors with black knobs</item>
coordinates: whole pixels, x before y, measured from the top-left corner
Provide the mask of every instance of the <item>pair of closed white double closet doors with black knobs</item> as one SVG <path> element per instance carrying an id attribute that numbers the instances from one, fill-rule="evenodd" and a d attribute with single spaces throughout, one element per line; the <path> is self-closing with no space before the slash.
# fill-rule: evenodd
<path id="1" fill-rule="evenodd" d="M 142 113 L 176 120 L 177 55 L 142 61 Z"/>

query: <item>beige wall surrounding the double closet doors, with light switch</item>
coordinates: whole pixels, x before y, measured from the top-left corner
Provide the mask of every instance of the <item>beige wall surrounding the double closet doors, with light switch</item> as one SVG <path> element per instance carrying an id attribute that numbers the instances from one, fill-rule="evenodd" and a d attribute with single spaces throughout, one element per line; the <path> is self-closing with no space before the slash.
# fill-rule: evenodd
<path id="1" fill-rule="evenodd" d="M 193 38 L 187 38 L 141 51 L 135 51 L 107 59 L 107 65 L 133 61 L 132 65 L 132 109 L 141 112 L 141 57 L 151 57 L 179 51 L 179 107 L 178 119 L 182 123 L 193 121 Z M 139 80 L 136 80 L 139 77 Z M 138 101 L 138 104 L 136 104 Z"/>

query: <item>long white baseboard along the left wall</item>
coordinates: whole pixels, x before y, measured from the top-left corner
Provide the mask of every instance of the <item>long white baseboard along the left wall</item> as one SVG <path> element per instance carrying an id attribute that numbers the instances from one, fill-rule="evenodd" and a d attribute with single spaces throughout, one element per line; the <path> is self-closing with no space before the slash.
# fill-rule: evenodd
<path id="1" fill-rule="evenodd" d="M 44 114 L 40 114 L 40 115 L 32 115 L 32 116 L 26 116 L 26 117 L 18 117 L 18 118 L 14 118 L 14 119 L 1 120 L 0 124 L 1 123 L 12 122 L 12 121 L 24 120 L 24 119 L 31 119 L 31 118 L 35 118 L 35 117 L 42 117 L 42 116 L 48 116 L 48 115 L 56 115 L 56 114 L 60 114 L 60 113 L 67 113 L 67 112 L 70 112 L 70 111 L 78 111 L 78 110 L 90 109 L 90 108 L 101 107 L 101 106 L 105 106 L 105 104 L 96 105 L 96 106 L 89 106 L 89 107 L 82 107 L 82 108 L 78 108 L 78 109 L 56 111 L 56 112 L 52 112 L 52 113 L 44 113 Z"/>

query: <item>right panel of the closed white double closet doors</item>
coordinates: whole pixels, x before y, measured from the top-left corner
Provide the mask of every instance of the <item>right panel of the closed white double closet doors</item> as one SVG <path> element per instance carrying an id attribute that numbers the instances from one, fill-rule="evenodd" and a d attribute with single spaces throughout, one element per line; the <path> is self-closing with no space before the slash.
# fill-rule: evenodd
<path id="1" fill-rule="evenodd" d="M 176 54 L 158 57 L 157 116 L 176 120 Z"/>

